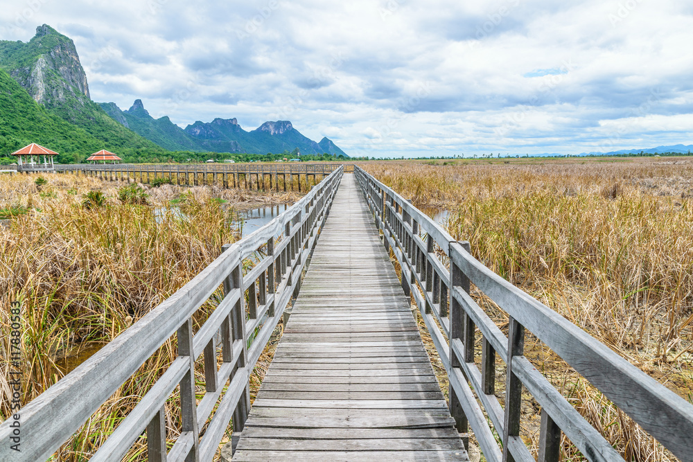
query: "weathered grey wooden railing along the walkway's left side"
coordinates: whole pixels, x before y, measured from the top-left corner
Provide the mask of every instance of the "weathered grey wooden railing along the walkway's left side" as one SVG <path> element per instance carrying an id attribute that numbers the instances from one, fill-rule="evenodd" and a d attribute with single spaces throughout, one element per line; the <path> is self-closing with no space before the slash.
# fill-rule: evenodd
<path id="1" fill-rule="evenodd" d="M 19 453 L 10 450 L 13 419 L 6 420 L 0 425 L 0 460 L 49 458 L 175 334 L 177 359 L 91 460 L 120 461 L 146 432 L 149 461 L 211 461 L 229 420 L 233 418 L 234 431 L 243 429 L 249 375 L 300 287 L 341 178 L 338 168 L 272 222 L 225 246 L 192 281 L 23 407 Z M 244 263 L 247 268 L 251 257 L 257 261 L 244 274 Z M 203 303 L 215 300 L 216 308 L 193 335 L 193 316 L 200 314 Z M 194 371 L 201 355 L 205 392 L 198 403 Z M 178 386 L 182 428 L 166 454 L 164 403 Z"/>

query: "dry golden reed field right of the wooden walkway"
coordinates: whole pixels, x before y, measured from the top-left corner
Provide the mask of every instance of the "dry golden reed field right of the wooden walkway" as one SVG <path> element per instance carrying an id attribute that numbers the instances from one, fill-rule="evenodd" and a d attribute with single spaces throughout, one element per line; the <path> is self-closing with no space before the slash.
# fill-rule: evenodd
<path id="1" fill-rule="evenodd" d="M 414 205 L 449 211 L 444 227 L 475 258 L 693 402 L 693 159 L 362 167 Z M 476 296 L 507 332 L 505 312 Z M 528 359 L 624 459 L 677 460 L 541 341 L 525 342 Z M 502 400 L 505 373 L 497 389 Z M 536 455 L 540 409 L 525 398 L 523 438 Z M 563 460 L 583 459 L 564 441 Z"/>

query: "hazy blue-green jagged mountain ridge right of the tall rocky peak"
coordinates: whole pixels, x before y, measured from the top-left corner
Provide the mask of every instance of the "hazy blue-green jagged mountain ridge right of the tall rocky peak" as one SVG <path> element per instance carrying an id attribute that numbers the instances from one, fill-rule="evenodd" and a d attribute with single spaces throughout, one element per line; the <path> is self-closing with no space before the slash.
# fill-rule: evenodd
<path id="1" fill-rule="evenodd" d="M 197 121 L 182 129 L 168 116 L 153 118 L 144 108 L 142 100 L 135 100 L 130 109 L 122 111 L 115 103 L 100 103 L 101 108 L 114 121 L 168 150 L 212 152 L 267 152 L 293 151 L 301 154 L 337 154 L 348 157 L 330 139 L 319 143 L 306 138 L 289 121 L 265 122 L 246 132 L 236 118 L 216 118 L 210 123 Z"/>

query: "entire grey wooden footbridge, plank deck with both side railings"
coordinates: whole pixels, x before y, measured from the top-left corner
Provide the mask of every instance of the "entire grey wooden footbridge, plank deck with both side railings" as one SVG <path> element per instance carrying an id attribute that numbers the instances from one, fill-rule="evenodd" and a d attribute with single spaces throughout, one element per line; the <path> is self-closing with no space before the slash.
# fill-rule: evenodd
<path id="1" fill-rule="evenodd" d="M 471 434 L 489 462 L 558 461 L 562 434 L 587 460 L 622 461 L 524 357 L 529 331 L 672 454 L 693 461 L 690 403 L 468 250 L 360 168 L 337 168 L 21 409 L 21 453 L 6 443 L 14 420 L 0 425 L 0 460 L 48 459 L 175 339 L 177 359 L 91 460 L 120 461 L 144 438 L 150 461 L 211 461 L 232 428 L 222 456 L 235 449 L 234 461 L 465 461 Z M 507 336 L 470 296 L 472 284 L 507 312 Z M 448 373 L 448 403 L 412 299 Z M 200 308 L 207 301 L 211 312 Z M 250 407 L 249 375 L 287 307 Z M 538 457 L 520 438 L 523 389 L 541 406 Z M 175 428 L 166 423 L 171 396 L 182 417 Z"/>

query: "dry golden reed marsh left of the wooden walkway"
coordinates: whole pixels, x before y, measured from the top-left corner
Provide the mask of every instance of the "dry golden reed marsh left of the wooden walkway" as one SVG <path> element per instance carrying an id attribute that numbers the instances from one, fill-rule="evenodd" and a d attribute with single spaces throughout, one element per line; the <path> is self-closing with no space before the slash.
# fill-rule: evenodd
<path id="1" fill-rule="evenodd" d="M 298 198 L 297 193 L 217 186 L 128 186 L 73 175 L 0 176 L 0 218 L 6 219 L 0 225 L 0 351 L 9 357 L 10 302 L 19 301 L 21 402 L 26 405 L 58 382 L 190 281 L 222 245 L 238 240 L 238 230 L 229 226 L 230 210 Z M 215 294 L 198 310 L 195 330 L 220 297 Z M 280 331 L 281 325 L 275 334 Z M 253 393 L 276 343 L 272 339 L 258 361 Z M 175 341 L 164 344 L 52 460 L 89 459 L 175 359 L 176 350 Z M 8 362 L 1 367 L 0 420 L 5 420 L 11 414 Z M 196 375 L 202 394 L 201 366 Z M 171 439 L 180 428 L 177 399 L 171 396 L 166 407 Z M 146 440 L 140 438 L 126 460 L 143 460 L 144 454 Z"/>

